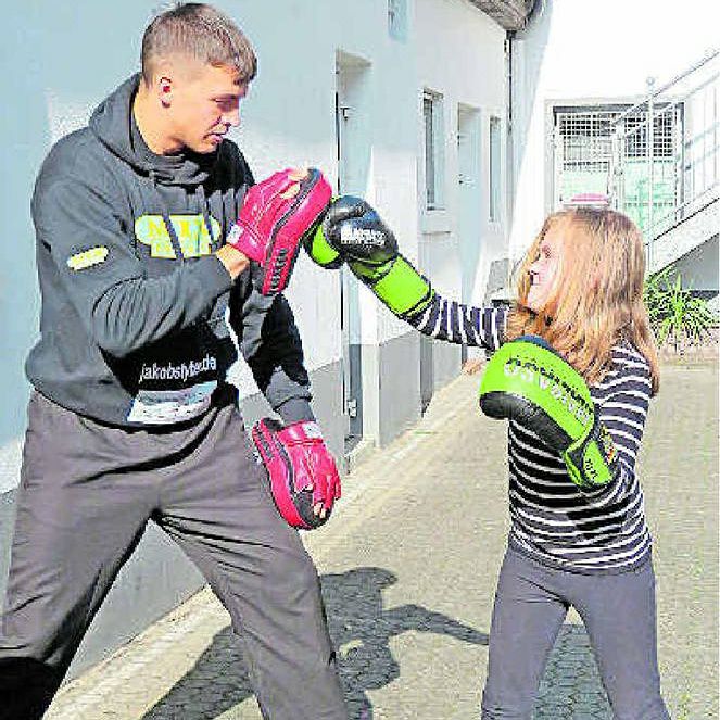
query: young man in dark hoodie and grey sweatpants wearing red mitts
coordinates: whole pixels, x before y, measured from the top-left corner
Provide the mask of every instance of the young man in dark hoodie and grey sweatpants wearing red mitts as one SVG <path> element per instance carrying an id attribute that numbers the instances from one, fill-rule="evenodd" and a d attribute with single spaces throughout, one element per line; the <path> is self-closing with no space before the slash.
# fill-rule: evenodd
<path id="1" fill-rule="evenodd" d="M 269 247 L 257 231 L 267 209 L 285 212 L 305 177 L 277 174 L 243 204 L 253 178 L 224 136 L 255 70 L 229 18 L 178 5 L 146 30 L 141 76 L 40 170 L 41 337 L 26 366 L 34 391 L 0 627 L 4 720 L 45 712 L 150 519 L 228 609 L 264 716 L 346 717 L 315 567 L 273 504 L 225 382 L 236 356 L 227 311 L 294 440 L 312 435 L 332 465 L 316 428 L 305 433 L 314 418 L 290 307 L 248 271 L 247 255 L 262 261 Z M 331 484 L 314 496 L 323 515 Z"/>

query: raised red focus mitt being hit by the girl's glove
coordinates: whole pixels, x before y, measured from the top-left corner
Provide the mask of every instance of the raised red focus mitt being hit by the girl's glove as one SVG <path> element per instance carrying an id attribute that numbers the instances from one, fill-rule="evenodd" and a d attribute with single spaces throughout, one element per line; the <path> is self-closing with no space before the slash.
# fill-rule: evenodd
<path id="1" fill-rule="evenodd" d="M 315 168 L 287 168 L 250 188 L 226 241 L 258 263 L 256 283 L 264 295 L 286 288 L 300 243 L 320 222 L 331 195 Z"/>

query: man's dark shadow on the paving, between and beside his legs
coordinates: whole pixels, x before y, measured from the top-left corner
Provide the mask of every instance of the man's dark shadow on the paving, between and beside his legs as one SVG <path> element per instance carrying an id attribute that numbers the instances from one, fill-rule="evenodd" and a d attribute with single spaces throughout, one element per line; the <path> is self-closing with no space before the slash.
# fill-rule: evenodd
<path id="1" fill-rule="evenodd" d="M 381 591 L 397 578 L 382 568 L 356 568 L 320 580 L 351 720 L 371 720 L 367 691 L 400 677 L 400 666 L 390 650 L 391 637 L 415 630 L 488 644 L 485 633 L 419 605 L 384 609 Z M 142 720 L 211 720 L 252 695 L 240 644 L 228 626 Z"/>

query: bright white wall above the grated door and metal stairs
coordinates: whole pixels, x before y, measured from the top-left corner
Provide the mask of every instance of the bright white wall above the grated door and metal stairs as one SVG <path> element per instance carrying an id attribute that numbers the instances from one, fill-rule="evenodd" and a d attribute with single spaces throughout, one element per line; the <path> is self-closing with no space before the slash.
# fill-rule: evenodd
<path id="1" fill-rule="evenodd" d="M 720 27 L 720 4 L 712 0 L 538 0 L 538 5 L 514 48 L 514 257 L 527 249 L 552 210 L 550 105 L 636 102 L 648 77 L 658 87 L 717 47 Z"/>

